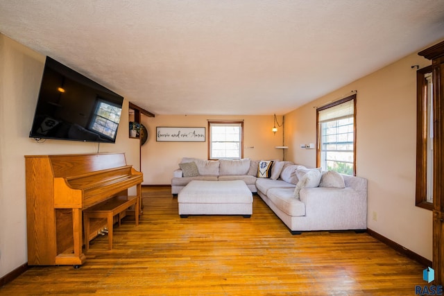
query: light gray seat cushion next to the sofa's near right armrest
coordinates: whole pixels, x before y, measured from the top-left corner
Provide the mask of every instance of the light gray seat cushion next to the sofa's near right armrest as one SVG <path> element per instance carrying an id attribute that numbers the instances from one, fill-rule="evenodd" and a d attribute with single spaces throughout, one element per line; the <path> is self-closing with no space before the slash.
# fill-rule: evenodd
<path id="1" fill-rule="evenodd" d="M 285 214 L 293 217 L 305 216 L 305 204 L 293 197 L 293 189 L 273 188 L 268 190 L 267 196 Z"/>

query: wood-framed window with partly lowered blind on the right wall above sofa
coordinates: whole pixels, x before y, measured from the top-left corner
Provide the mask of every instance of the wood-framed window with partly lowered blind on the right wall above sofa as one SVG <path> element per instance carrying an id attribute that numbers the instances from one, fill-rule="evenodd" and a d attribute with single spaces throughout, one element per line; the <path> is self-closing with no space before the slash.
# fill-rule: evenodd
<path id="1" fill-rule="evenodd" d="M 356 175 L 356 94 L 316 109 L 316 166 Z"/>

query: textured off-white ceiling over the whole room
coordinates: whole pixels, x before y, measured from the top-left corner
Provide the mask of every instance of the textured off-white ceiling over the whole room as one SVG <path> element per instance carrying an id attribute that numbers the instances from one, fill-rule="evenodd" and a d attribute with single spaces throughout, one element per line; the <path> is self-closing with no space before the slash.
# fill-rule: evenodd
<path id="1" fill-rule="evenodd" d="M 444 0 L 6 0 L 0 33 L 154 114 L 285 114 L 443 39 Z"/>

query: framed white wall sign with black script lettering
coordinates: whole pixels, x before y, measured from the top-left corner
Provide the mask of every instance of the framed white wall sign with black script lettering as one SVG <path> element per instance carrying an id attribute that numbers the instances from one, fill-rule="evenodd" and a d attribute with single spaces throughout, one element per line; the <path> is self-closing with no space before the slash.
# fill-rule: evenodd
<path id="1" fill-rule="evenodd" d="M 157 126 L 157 142 L 205 142 L 205 128 L 169 128 Z"/>

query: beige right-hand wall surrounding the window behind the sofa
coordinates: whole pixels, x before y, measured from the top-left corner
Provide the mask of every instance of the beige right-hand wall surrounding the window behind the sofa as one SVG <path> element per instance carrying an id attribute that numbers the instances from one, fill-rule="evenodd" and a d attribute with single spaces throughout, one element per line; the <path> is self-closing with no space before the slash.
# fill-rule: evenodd
<path id="1" fill-rule="evenodd" d="M 316 106 L 357 90 L 357 175 L 368 179 L 368 228 L 432 260 L 432 211 L 416 207 L 417 53 L 285 115 L 289 158 L 316 166 Z M 340 70 L 340 69 L 339 69 Z M 373 212 L 376 220 L 373 220 Z"/>

